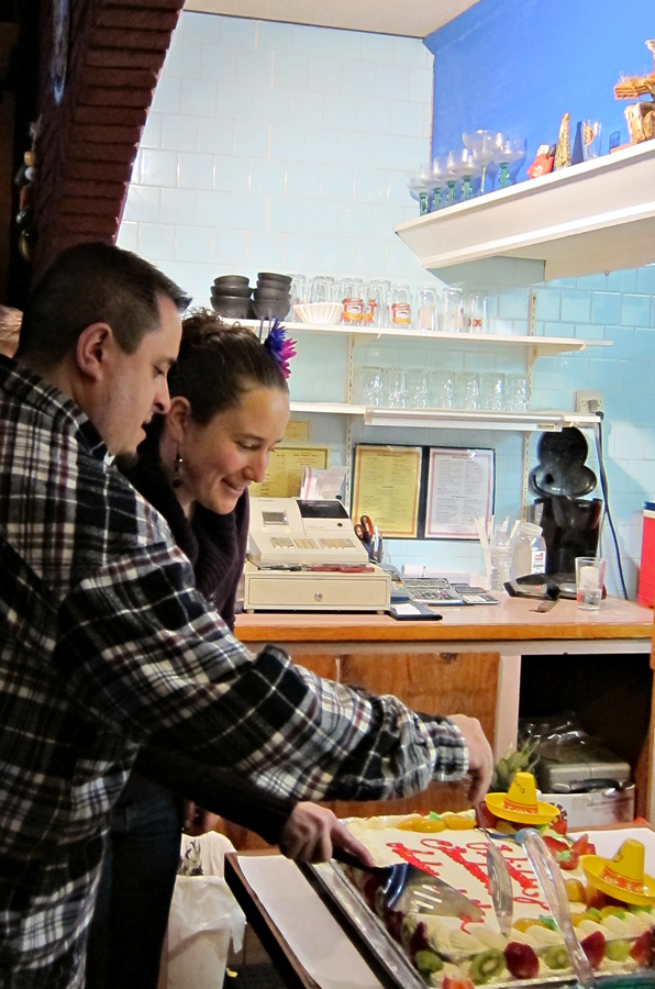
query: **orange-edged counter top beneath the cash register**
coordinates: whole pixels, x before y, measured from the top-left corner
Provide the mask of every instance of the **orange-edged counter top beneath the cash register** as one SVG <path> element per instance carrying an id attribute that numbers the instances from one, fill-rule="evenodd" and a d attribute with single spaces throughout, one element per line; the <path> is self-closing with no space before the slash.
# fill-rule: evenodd
<path id="1" fill-rule="evenodd" d="M 386 614 L 256 612 L 240 614 L 242 642 L 536 642 L 650 640 L 653 611 L 608 597 L 597 612 L 560 599 L 537 612 L 534 598 L 503 598 L 499 604 L 442 608 L 441 622 L 398 622 Z M 438 609 L 435 609 L 438 611 Z"/>

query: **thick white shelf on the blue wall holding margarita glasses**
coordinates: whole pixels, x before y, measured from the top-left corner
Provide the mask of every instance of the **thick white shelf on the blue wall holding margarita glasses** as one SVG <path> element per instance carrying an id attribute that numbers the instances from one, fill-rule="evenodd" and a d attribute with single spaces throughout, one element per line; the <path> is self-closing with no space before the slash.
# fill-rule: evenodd
<path id="1" fill-rule="evenodd" d="M 655 141 L 478 196 L 396 233 L 445 281 L 510 258 L 512 280 L 635 268 L 655 262 Z"/>

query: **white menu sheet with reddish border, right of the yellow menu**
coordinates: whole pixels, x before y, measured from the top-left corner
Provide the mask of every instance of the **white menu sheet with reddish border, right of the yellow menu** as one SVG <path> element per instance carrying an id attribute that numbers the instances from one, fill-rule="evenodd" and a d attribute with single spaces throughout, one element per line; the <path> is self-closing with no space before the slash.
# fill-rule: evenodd
<path id="1" fill-rule="evenodd" d="M 488 524 L 493 512 L 492 449 L 429 449 L 426 540 L 477 540 L 475 520 Z"/>

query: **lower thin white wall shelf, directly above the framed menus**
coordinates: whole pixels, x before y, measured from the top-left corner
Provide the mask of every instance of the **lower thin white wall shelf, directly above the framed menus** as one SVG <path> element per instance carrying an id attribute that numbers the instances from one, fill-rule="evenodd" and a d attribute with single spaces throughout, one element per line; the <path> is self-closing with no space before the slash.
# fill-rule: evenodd
<path id="1" fill-rule="evenodd" d="M 588 429 L 598 415 L 579 412 L 468 412 L 459 409 L 380 409 L 345 402 L 291 402 L 291 412 L 362 416 L 365 425 L 442 430 L 504 430 L 559 432 L 565 426 Z"/>

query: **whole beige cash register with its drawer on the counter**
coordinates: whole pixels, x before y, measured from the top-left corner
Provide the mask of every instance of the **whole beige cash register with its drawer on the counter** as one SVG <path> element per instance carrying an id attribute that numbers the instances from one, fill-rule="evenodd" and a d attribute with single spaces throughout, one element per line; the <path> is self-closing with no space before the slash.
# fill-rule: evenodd
<path id="1" fill-rule="evenodd" d="M 384 613 L 390 594 L 341 501 L 251 499 L 244 611 Z"/>

